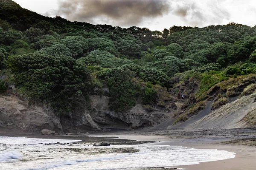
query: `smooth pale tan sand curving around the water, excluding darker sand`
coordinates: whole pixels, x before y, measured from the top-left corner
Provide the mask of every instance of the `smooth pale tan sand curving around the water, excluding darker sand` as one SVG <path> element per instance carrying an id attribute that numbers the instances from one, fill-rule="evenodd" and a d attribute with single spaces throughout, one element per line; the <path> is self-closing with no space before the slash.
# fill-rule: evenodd
<path id="1" fill-rule="evenodd" d="M 184 170 L 255 170 L 256 167 L 256 147 L 240 145 L 240 144 L 221 144 L 223 140 L 220 139 L 169 139 L 166 136 L 142 136 L 131 134 L 97 134 L 92 136 L 118 136 L 119 139 L 132 140 L 155 140 L 156 145 L 171 145 L 189 147 L 195 149 L 216 149 L 226 150 L 228 152 L 236 153 L 235 158 L 224 159 L 219 161 L 207 161 L 199 164 L 170 166 L 168 168 L 181 168 Z M 230 139 L 224 140 L 228 141 Z M 157 141 L 161 141 L 160 143 Z"/>

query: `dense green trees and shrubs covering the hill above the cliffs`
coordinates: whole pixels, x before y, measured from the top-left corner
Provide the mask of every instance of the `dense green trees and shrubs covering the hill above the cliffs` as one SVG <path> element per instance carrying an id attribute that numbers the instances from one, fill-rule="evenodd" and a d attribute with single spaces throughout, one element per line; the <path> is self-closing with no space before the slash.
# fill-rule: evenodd
<path id="1" fill-rule="evenodd" d="M 0 93 L 15 85 L 15 93 L 63 114 L 88 106 L 90 94 L 99 94 L 110 97 L 111 110 L 127 111 L 137 102 L 163 103 L 160 87 L 168 93 L 195 79 L 200 86 L 194 97 L 201 101 L 219 82 L 256 73 L 255 31 L 236 23 L 163 32 L 92 25 L 1 0 Z M 204 106 L 195 104 L 186 116 Z"/>

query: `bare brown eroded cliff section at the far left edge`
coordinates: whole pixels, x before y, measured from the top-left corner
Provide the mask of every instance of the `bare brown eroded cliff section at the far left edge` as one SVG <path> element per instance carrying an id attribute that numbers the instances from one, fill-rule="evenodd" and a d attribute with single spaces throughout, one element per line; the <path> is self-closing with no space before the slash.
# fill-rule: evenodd
<path id="1" fill-rule="evenodd" d="M 28 106 L 15 95 L 0 96 L 0 128 L 3 132 L 40 133 L 49 129 L 63 133 L 59 118 L 49 108 Z"/>

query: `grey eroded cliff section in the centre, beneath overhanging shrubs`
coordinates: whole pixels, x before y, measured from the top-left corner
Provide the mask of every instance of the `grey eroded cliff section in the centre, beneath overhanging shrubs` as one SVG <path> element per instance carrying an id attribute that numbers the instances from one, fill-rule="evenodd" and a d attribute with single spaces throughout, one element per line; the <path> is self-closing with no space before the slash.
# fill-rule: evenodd
<path id="1" fill-rule="evenodd" d="M 118 113 L 108 110 L 107 96 L 91 96 L 92 111 L 90 116 L 101 128 L 104 129 L 134 129 L 152 127 L 164 122 L 173 113 L 161 111 L 155 108 L 153 111 L 146 111 L 142 105 L 137 104 L 130 111 Z"/>

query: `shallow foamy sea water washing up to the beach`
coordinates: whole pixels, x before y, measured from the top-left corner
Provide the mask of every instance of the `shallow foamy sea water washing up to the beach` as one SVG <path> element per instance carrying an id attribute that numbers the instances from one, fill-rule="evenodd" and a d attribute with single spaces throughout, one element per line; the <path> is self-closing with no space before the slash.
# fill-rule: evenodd
<path id="1" fill-rule="evenodd" d="M 46 145 L 57 142 L 64 144 L 79 141 L 0 136 L 0 170 L 135 170 L 235 157 L 235 153 L 224 150 L 156 144 L 110 147 L 86 143 Z"/>

